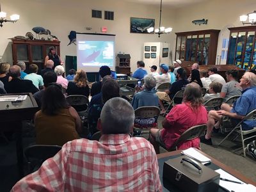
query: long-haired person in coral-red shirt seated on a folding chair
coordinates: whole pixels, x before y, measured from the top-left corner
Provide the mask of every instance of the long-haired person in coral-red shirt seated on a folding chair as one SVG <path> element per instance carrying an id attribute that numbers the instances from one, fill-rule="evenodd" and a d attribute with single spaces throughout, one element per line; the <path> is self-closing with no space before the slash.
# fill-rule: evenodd
<path id="1" fill-rule="evenodd" d="M 198 84 L 190 83 L 184 91 L 182 104 L 177 104 L 164 118 L 163 129 L 150 129 L 150 142 L 159 154 L 159 143 L 167 148 L 172 148 L 180 135 L 195 125 L 207 123 L 207 111 L 202 105 L 202 91 Z M 182 141 L 178 149 L 189 147 L 200 148 L 200 139 Z"/>

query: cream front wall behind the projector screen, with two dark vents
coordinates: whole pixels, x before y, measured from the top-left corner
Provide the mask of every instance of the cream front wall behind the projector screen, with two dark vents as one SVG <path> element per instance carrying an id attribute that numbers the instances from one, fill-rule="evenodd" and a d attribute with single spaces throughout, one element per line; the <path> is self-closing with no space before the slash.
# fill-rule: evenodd
<path id="1" fill-rule="evenodd" d="M 114 20 L 92 18 L 92 9 L 114 12 Z M 2 0 L 1 10 L 10 17 L 13 13 L 20 15 L 15 24 L 3 23 L 0 29 L 0 56 L 3 61 L 12 63 L 12 49 L 8 46 L 8 38 L 25 36 L 35 26 L 50 29 L 52 35 L 61 42 L 61 60 L 66 55 L 76 55 L 76 45 L 68 45 L 70 31 L 80 33 L 100 33 L 100 28 L 106 26 L 108 34 L 116 35 L 116 54 L 125 52 L 131 54 L 131 70 L 136 69 L 136 61 L 143 60 L 144 42 L 168 42 L 174 44 L 174 35 L 135 34 L 130 33 L 130 17 L 156 19 L 159 24 L 159 6 L 145 6 L 116 0 Z M 162 24 L 172 26 L 173 12 L 163 9 Z M 91 27 L 87 31 L 86 27 Z M 33 32 L 33 31 L 31 31 Z M 35 33 L 34 33 L 35 35 Z M 8 48 L 7 48 L 8 47 Z"/>

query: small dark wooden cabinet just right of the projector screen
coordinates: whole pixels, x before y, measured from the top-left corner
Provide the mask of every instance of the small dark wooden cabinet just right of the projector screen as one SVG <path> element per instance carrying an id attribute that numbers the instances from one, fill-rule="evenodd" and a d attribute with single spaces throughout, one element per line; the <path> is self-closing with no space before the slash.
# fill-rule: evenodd
<path id="1" fill-rule="evenodd" d="M 131 74 L 131 56 L 130 54 L 117 54 L 116 56 L 116 73 L 126 74 L 130 76 Z"/>

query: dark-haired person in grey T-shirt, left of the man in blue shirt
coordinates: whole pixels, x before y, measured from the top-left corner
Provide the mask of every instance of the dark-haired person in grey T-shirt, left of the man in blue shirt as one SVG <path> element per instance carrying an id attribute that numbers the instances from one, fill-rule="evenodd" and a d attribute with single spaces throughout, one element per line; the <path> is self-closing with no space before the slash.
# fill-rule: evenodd
<path id="1" fill-rule="evenodd" d="M 237 70 L 228 70 L 226 72 L 228 83 L 223 84 L 220 93 L 220 97 L 223 97 L 224 101 L 227 100 L 229 97 L 242 94 L 242 88 L 239 87 L 239 83 L 236 81 L 237 74 Z"/>

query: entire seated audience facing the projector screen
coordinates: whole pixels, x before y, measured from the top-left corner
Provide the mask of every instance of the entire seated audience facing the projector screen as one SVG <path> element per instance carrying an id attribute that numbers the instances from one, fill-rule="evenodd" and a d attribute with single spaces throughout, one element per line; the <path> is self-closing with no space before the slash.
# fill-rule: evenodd
<path id="1" fill-rule="evenodd" d="M 30 74 L 24 72 L 26 65 L 22 62 L 12 67 L 9 63 L 1 63 L 0 94 L 31 92 L 38 104 L 39 111 L 34 118 L 36 144 L 62 146 L 56 156 L 17 182 L 12 190 L 162 191 L 156 157 L 159 146 L 170 150 L 184 131 L 202 124 L 207 125 L 205 136 L 182 141 L 177 148 L 200 149 L 200 142 L 212 145 L 211 133 L 218 132 L 223 116 L 228 117 L 230 125 L 235 125 L 256 109 L 256 75 L 252 72 L 245 72 L 238 83 L 237 70 L 228 70 L 226 83 L 216 67 L 209 69 L 207 77 L 207 72 L 201 71 L 195 63 L 189 76 L 180 60 L 173 63 L 174 68 L 159 65 L 160 74 L 156 71 L 157 66 L 152 65 L 152 74 L 147 74 L 145 63 L 138 61 L 138 69 L 132 77 L 143 80 L 143 85 L 135 86 L 136 93 L 131 102 L 122 99 L 118 82 L 111 77 L 107 66 L 100 67 L 101 79 L 90 89 L 84 70 L 70 70 L 65 77 L 61 65 L 52 69 L 52 60 L 47 60 L 40 72 L 35 64 L 29 65 Z M 170 87 L 157 91 L 163 83 L 170 84 Z M 205 95 L 202 88 L 207 90 Z M 175 98 L 179 91 L 183 92 L 183 98 Z M 68 95 L 92 97 L 87 109 L 87 139 L 79 135 L 84 125 L 76 109 L 65 99 Z M 204 107 L 204 102 L 209 99 L 222 97 L 227 100 L 234 95 L 241 97 L 232 106 L 223 103 L 220 110 L 209 113 Z M 166 111 L 164 103 L 169 105 L 172 100 L 175 106 Z M 161 109 L 161 114 L 167 113 L 161 122 L 163 129 L 150 129 L 150 142 L 131 136 L 134 110 L 143 106 L 156 106 Z M 243 130 L 253 129 L 256 121 L 245 120 L 242 127 Z M 98 131 L 102 135 L 100 140 L 90 140 Z M 253 145 L 248 145 L 248 150 L 256 157 Z M 100 169 L 102 164 L 105 164 L 104 169 Z"/>

